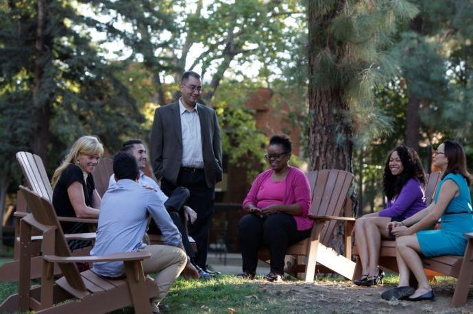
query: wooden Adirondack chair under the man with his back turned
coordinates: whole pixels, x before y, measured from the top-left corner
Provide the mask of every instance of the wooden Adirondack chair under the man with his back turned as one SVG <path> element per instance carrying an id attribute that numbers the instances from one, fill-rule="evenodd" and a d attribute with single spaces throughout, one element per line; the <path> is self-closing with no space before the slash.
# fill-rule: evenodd
<path id="1" fill-rule="evenodd" d="M 32 213 L 21 219 L 19 293 L 5 300 L 0 311 L 31 309 L 37 313 L 108 313 L 133 304 L 135 313 L 150 313 L 149 299 L 157 295 L 158 288 L 154 280 L 143 273 L 141 261 L 151 256 L 148 252 L 71 256 L 51 202 L 23 186 L 20 189 Z M 41 285 L 33 288 L 29 283 L 32 228 L 43 234 L 44 253 Z M 101 278 L 90 270 L 79 273 L 75 265 L 104 261 L 123 261 L 127 280 Z M 56 280 L 56 284 L 53 277 L 55 264 L 64 275 Z M 64 302 L 68 299 L 75 300 Z"/>

